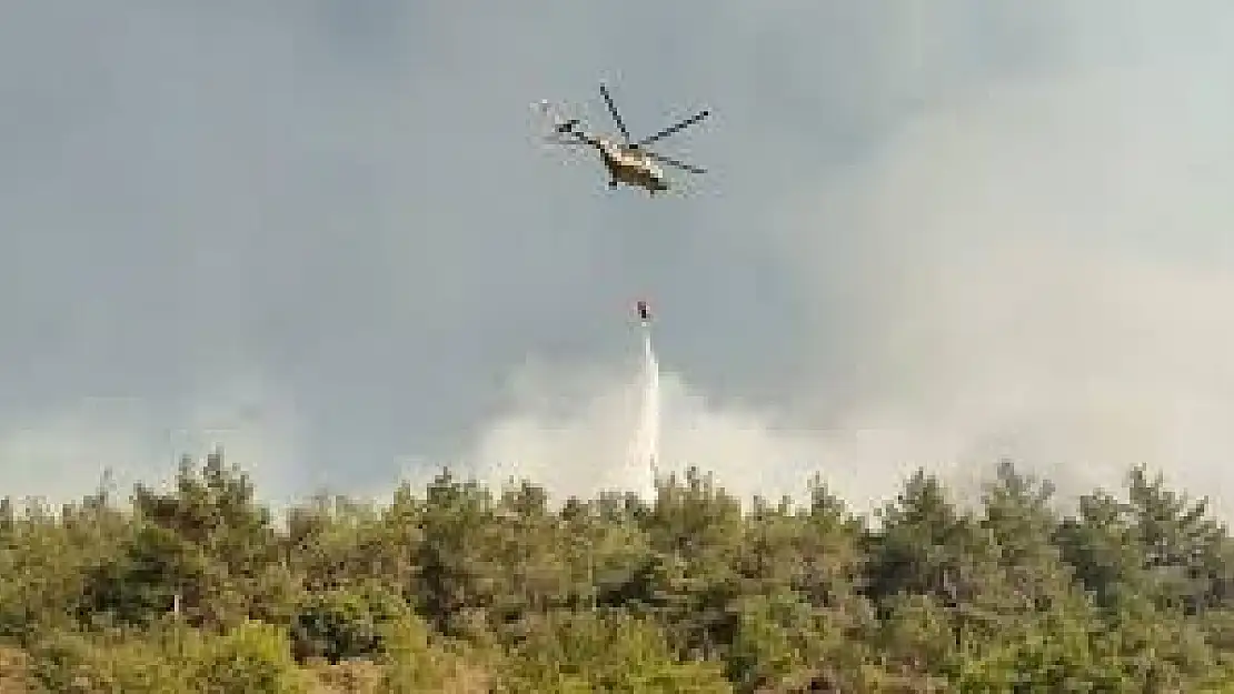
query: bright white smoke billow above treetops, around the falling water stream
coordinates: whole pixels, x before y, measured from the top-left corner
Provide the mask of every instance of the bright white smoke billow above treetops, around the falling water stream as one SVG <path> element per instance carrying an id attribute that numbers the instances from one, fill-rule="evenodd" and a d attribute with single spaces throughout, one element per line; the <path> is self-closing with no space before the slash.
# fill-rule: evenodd
<path id="1" fill-rule="evenodd" d="M 777 430 L 759 412 L 717 407 L 680 374 L 661 374 L 649 328 L 642 343 L 640 359 L 615 371 L 526 366 L 507 412 L 466 456 L 470 472 L 491 488 L 543 484 L 559 500 L 606 491 L 652 499 L 656 478 L 697 466 L 743 499 L 800 498 L 821 451 L 854 450 L 853 441 Z"/>

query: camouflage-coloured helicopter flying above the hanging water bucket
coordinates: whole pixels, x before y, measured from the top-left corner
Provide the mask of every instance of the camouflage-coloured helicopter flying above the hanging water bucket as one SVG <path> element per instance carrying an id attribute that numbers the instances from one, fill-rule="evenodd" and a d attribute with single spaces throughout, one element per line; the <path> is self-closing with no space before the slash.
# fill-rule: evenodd
<path id="1" fill-rule="evenodd" d="M 703 169 L 692 166 L 684 161 L 679 161 L 670 157 L 658 154 L 650 149 L 645 149 L 648 144 L 663 139 L 682 128 L 692 126 L 698 121 L 702 121 L 711 115 L 710 111 L 698 111 L 694 116 L 679 121 L 677 123 L 669 126 L 660 132 L 644 137 L 640 141 L 632 142 L 629 137 L 629 131 L 626 129 L 626 123 L 622 121 L 621 115 L 617 112 L 617 106 L 613 104 L 612 96 L 608 94 L 608 89 L 600 84 L 600 95 L 605 97 L 605 104 L 608 106 L 608 112 L 613 117 L 613 122 L 617 123 L 617 129 L 621 131 L 622 141 L 616 138 L 598 136 L 587 133 L 579 127 L 581 122 L 579 118 L 563 118 L 557 113 L 548 100 L 542 100 L 539 102 L 540 110 L 550 116 L 554 121 L 554 134 L 563 138 L 569 138 L 565 141 L 558 141 L 560 144 L 586 144 L 596 152 L 600 153 L 601 160 L 605 163 L 605 168 L 608 169 L 608 187 L 616 189 L 618 185 L 637 186 L 647 190 L 648 195 L 654 196 L 656 192 L 669 190 L 669 180 L 664 175 L 664 169 L 659 164 L 668 164 L 670 166 L 676 166 L 684 171 L 690 171 L 691 174 L 705 174 Z"/>

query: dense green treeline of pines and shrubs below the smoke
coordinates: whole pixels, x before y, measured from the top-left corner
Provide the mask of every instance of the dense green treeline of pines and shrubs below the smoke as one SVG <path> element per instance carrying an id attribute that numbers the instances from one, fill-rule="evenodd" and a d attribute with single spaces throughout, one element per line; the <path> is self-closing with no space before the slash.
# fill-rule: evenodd
<path id="1" fill-rule="evenodd" d="M 691 470 L 653 503 L 443 472 L 275 520 L 185 460 L 169 493 L 0 505 L 0 692 L 1234 692 L 1203 500 L 1134 468 L 1060 513 L 991 472 L 963 507 L 918 472 L 871 519 Z"/>

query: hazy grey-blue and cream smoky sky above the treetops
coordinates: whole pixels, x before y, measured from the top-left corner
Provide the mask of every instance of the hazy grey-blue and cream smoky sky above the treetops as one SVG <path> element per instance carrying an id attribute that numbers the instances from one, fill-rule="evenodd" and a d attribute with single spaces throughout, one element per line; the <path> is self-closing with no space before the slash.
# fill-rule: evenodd
<path id="1" fill-rule="evenodd" d="M 269 497 L 587 493 L 643 296 L 664 459 L 743 494 L 1011 455 L 1228 496 L 1232 71 L 1223 0 L 10 1 L 2 492 L 222 443 Z M 664 143 L 711 173 L 539 143 L 601 79 L 636 134 L 712 108 Z"/>

